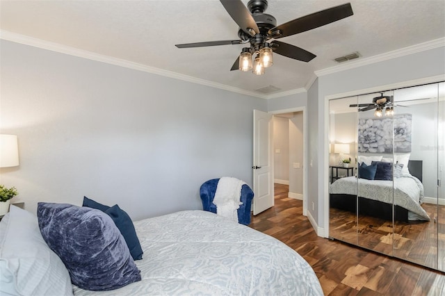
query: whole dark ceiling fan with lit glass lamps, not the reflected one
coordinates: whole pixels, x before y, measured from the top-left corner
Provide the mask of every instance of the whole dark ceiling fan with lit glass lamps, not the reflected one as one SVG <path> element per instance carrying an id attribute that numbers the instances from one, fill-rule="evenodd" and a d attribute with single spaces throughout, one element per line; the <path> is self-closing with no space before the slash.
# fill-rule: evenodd
<path id="1" fill-rule="evenodd" d="M 305 49 L 275 39 L 309 31 L 354 14 L 350 3 L 346 3 L 277 26 L 275 17 L 264 13 L 268 6 L 267 0 L 250 0 L 247 7 L 241 0 L 220 0 L 220 2 L 239 26 L 238 40 L 196 42 L 175 46 L 181 49 L 250 43 L 249 47 L 242 49 L 230 71 L 240 69 L 247 72 L 253 69 L 254 74 L 257 75 L 264 74 L 264 68 L 273 65 L 273 52 L 303 62 L 309 62 L 316 57 Z M 269 42 L 271 39 L 274 40 Z M 253 54 L 256 56 L 252 66 Z"/>

